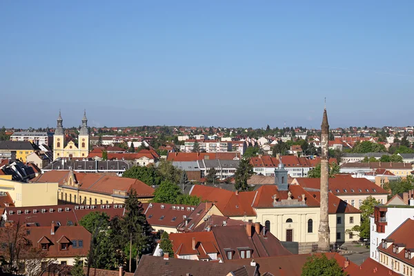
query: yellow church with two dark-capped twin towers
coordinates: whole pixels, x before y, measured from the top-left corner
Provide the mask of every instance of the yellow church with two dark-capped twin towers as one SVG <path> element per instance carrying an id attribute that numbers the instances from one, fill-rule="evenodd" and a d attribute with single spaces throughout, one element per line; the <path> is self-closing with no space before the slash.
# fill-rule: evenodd
<path id="1" fill-rule="evenodd" d="M 63 119 L 59 111 L 57 117 L 57 127 L 53 135 L 53 159 L 61 157 L 88 157 L 89 154 L 89 130 L 86 112 L 83 112 L 82 126 L 79 130 L 78 145 L 73 141 L 66 144 L 65 133 L 63 131 Z"/>

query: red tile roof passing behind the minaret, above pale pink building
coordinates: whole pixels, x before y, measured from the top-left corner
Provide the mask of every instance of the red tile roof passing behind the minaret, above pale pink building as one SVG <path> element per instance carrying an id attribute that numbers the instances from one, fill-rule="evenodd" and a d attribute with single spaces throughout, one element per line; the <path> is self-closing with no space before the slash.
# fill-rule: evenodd
<path id="1" fill-rule="evenodd" d="M 319 178 L 296 178 L 293 184 L 299 184 L 304 188 L 319 189 L 321 179 Z M 329 179 L 329 190 L 334 195 L 388 195 L 388 191 L 366 178 L 355 178 L 351 175 L 335 175 Z"/>

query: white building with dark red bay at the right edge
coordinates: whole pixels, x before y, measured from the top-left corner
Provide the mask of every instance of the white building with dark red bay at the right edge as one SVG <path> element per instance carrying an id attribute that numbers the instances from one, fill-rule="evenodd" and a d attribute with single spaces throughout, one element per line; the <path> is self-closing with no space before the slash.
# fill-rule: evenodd
<path id="1" fill-rule="evenodd" d="M 378 248 L 382 240 L 394 233 L 408 217 L 414 216 L 414 206 L 400 205 L 401 201 L 396 201 L 393 198 L 387 205 L 375 206 L 374 214 L 370 217 L 370 257 L 377 262 L 381 260 Z"/>

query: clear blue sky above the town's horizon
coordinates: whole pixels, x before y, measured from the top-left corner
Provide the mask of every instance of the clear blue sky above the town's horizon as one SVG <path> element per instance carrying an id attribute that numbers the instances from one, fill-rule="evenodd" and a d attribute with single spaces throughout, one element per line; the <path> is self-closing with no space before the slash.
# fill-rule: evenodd
<path id="1" fill-rule="evenodd" d="M 0 126 L 414 124 L 414 1 L 0 1 Z"/>

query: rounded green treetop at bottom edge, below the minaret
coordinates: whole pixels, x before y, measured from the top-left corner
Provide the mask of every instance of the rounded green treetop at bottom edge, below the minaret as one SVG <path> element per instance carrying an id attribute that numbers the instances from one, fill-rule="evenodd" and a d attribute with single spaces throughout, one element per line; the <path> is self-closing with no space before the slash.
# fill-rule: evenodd
<path id="1" fill-rule="evenodd" d="M 308 257 L 302 267 L 302 276 L 346 276 L 335 258 L 328 259 L 325 254 Z"/>

